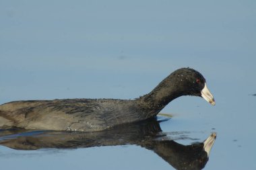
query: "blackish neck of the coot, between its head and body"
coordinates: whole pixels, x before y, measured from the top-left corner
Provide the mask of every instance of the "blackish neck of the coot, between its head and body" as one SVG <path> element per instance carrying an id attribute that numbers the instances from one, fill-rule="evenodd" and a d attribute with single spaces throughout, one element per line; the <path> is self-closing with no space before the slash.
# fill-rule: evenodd
<path id="1" fill-rule="evenodd" d="M 174 82 L 172 77 L 166 77 L 150 93 L 139 97 L 139 103 L 147 117 L 156 116 L 170 101 L 183 95 L 179 86 Z"/>

